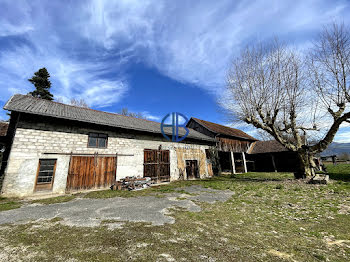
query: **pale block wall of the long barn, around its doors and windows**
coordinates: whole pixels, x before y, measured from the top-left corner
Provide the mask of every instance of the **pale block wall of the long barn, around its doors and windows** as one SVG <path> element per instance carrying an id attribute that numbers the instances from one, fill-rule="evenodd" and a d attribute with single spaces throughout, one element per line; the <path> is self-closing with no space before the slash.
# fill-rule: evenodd
<path id="1" fill-rule="evenodd" d="M 37 168 L 41 158 L 57 159 L 52 193 L 65 193 L 70 156 L 59 153 L 132 154 L 133 156 L 118 157 L 117 180 L 126 176 L 143 176 L 144 149 L 158 149 L 161 146 L 164 150 L 170 150 L 171 181 L 179 178 L 178 163 L 185 158 L 191 159 L 191 154 L 193 159 L 200 159 L 201 163 L 206 161 L 205 149 L 208 146 L 205 144 L 172 143 L 158 134 L 125 132 L 116 128 L 101 130 L 100 126 L 77 125 L 77 122 L 60 120 L 45 122 L 28 117 L 21 119 L 16 129 L 5 172 L 2 192 L 6 196 L 27 196 L 34 193 Z M 90 132 L 108 134 L 108 147 L 106 149 L 88 148 Z M 179 148 L 186 148 L 184 152 L 187 153 L 177 154 Z M 207 167 L 201 167 L 200 173 L 201 177 L 208 176 Z"/>

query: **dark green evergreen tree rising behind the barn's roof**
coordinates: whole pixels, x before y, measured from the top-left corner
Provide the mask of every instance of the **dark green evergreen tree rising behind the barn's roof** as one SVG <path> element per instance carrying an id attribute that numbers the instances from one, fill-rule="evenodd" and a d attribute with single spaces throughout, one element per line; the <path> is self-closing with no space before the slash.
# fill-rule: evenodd
<path id="1" fill-rule="evenodd" d="M 53 95 L 50 93 L 51 82 L 49 80 L 50 74 L 46 68 L 39 69 L 38 72 L 34 73 L 31 79 L 28 79 L 35 86 L 33 92 L 29 92 L 33 97 L 38 97 L 46 100 L 53 100 Z"/>

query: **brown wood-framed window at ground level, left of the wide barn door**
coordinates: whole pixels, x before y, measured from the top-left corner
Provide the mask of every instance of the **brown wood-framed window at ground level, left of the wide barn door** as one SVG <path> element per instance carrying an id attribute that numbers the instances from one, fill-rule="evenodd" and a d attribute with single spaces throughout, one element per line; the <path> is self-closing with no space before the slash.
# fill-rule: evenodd
<path id="1" fill-rule="evenodd" d="M 39 159 L 36 190 L 52 189 L 57 159 Z"/>

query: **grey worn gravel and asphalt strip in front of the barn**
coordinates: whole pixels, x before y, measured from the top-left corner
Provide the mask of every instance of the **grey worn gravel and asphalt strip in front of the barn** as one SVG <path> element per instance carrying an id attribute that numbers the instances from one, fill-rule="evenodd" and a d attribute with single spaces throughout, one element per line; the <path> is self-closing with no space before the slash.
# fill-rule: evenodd
<path id="1" fill-rule="evenodd" d="M 228 200 L 233 192 L 214 190 L 201 186 L 181 188 L 186 193 L 168 193 L 164 197 L 144 196 L 135 198 L 86 199 L 77 198 L 66 203 L 51 205 L 31 204 L 19 209 L 0 213 L 0 224 L 27 223 L 43 219 L 62 218 L 61 223 L 71 226 L 93 227 L 109 220 L 110 227 L 117 227 L 123 221 L 149 222 L 153 225 L 174 223 L 175 219 L 167 215 L 170 208 L 184 208 L 199 212 L 195 202 L 214 203 Z M 113 223 L 115 221 L 115 223 Z"/>

